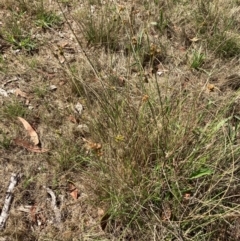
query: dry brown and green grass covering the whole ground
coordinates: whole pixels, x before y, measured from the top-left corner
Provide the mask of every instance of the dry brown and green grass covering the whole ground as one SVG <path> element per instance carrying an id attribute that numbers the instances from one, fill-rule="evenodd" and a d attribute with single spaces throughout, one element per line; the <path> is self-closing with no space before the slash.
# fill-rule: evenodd
<path id="1" fill-rule="evenodd" d="M 44 203 L 42 215 L 50 220 L 53 210 L 41 188 L 48 186 L 64 227 L 41 219 L 48 230 L 43 235 L 33 221 L 12 214 L 3 235 L 238 240 L 239 93 L 231 83 L 226 87 L 239 71 L 238 3 L 43 3 L 27 12 L 26 3 L 10 11 L 6 2 L 14 24 L 3 21 L 3 36 L 21 51 L 3 53 L 4 62 L 15 58 L 18 66 L 9 64 L 4 75 L 19 78 L 3 88 L 24 90 L 33 108 L 19 98 L 3 99 L 0 151 L 17 156 L 8 170 L 19 168 L 20 160 L 26 177 L 12 208 L 28 199 Z M 29 45 L 22 44 L 25 38 Z M 62 46 L 61 64 L 56 46 Z M 11 144 L 18 116 L 34 126 L 48 153 L 19 152 Z"/>

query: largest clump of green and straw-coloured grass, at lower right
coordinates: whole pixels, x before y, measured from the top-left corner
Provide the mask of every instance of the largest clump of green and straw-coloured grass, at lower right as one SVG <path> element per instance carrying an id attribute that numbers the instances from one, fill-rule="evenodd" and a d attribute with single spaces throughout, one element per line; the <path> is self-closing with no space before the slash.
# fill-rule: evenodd
<path id="1" fill-rule="evenodd" d="M 218 222 L 228 220 L 227 210 L 233 204 L 225 200 L 234 188 L 225 181 L 236 182 L 231 173 L 238 170 L 232 166 L 232 142 L 224 134 L 224 126 L 229 125 L 224 118 L 228 106 L 209 118 L 198 108 L 183 107 L 183 98 L 178 98 L 180 102 L 175 105 L 159 96 L 162 107 L 156 107 L 156 100 L 149 98 L 136 112 L 122 104 L 110 117 L 98 119 L 107 121 L 105 135 L 100 130 L 104 126 L 95 121 L 95 133 L 105 143 L 107 156 L 94 164 L 102 173 L 98 177 L 94 174 L 94 185 L 101 202 L 109 208 L 110 232 L 115 233 L 111 226 L 118 223 L 124 230 L 120 236 L 129 228 L 153 235 L 154 230 L 147 225 L 151 223 L 161 230 L 158 238 L 163 240 L 179 235 L 178 231 L 170 232 L 177 225 L 182 237 L 200 240 L 217 235 L 203 231 L 209 223 L 216 227 L 216 216 Z M 193 134 L 198 127 L 199 134 Z M 118 133 L 124 136 L 120 141 Z M 239 151 L 234 149 L 234 156 Z M 234 210 L 238 207 L 234 205 Z"/>

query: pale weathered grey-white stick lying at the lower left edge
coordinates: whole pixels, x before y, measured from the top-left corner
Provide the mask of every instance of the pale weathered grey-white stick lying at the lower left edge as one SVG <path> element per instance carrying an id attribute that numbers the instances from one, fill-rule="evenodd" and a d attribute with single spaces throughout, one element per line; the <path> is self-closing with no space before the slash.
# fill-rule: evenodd
<path id="1" fill-rule="evenodd" d="M 8 190 L 7 190 L 7 195 L 6 195 L 5 202 L 4 202 L 4 206 L 3 206 L 2 213 L 0 216 L 0 231 L 3 230 L 5 227 L 5 223 L 7 221 L 8 215 L 9 215 L 8 211 L 10 209 L 12 199 L 13 199 L 13 189 L 17 185 L 19 178 L 20 178 L 19 173 L 17 173 L 17 174 L 12 173 L 10 184 L 9 184 Z"/>

